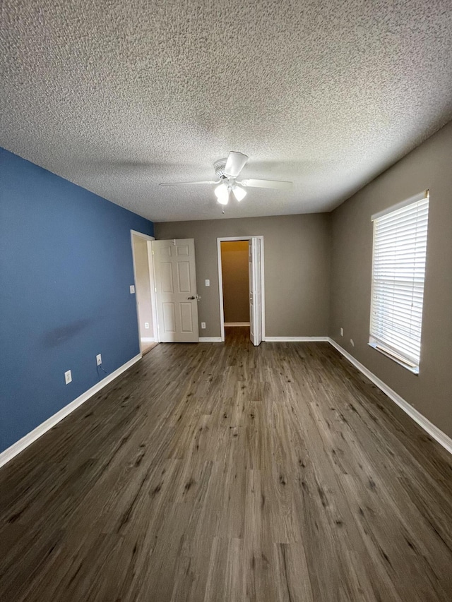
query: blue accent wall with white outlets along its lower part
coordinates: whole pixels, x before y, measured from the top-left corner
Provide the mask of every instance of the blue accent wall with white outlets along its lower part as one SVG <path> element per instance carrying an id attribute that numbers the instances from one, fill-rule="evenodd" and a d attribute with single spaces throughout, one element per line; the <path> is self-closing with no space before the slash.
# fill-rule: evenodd
<path id="1" fill-rule="evenodd" d="M 0 148 L 0 452 L 139 353 L 131 229 L 153 223 Z M 64 372 L 72 371 L 72 383 Z"/>

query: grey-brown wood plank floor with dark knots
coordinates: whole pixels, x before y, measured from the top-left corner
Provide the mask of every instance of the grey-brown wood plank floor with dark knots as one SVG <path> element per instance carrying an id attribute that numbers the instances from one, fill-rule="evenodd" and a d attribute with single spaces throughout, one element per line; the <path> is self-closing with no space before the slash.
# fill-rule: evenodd
<path id="1" fill-rule="evenodd" d="M 451 601 L 452 466 L 328 343 L 160 344 L 0 470 L 0 600 Z"/>

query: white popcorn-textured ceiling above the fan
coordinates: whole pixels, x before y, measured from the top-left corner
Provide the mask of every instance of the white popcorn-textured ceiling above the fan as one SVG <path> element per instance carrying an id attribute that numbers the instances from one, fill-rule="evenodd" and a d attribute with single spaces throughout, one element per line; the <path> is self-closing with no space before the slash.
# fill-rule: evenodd
<path id="1" fill-rule="evenodd" d="M 154 221 L 329 211 L 452 119 L 450 0 L 3 0 L 0 145 Z M 398 200 L 398 199 L 395 199 Z"/>

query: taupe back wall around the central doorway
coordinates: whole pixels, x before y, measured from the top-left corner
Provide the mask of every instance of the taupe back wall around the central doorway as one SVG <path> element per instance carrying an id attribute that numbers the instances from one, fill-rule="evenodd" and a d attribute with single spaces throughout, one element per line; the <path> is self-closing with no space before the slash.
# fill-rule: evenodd
<path id="1" fill-rule="evenodd" d="M 157 239 L 195 239 L 201 337 L 220 337 L 217 238 L 263 236 L 266 335 L 328 335 L 330 215 L 244 217 L 155 224 Z M 210 287 L 205 280 L 210 279 Z"/>

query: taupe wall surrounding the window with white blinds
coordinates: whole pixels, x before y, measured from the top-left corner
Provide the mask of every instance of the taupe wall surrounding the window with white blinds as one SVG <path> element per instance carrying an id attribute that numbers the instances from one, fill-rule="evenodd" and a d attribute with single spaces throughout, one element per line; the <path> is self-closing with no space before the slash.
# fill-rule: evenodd
<path id="1" fill-rule="evenodd" d="M 452 123 L 333 212 L 331 336 L 452 436 Z M 369 342 L 371 215 L 430 190 L 420 373 Z M 344 328 L 344 337 L 340 336 Z M 355 348 L 350 344 L 355 341 Z"/>

